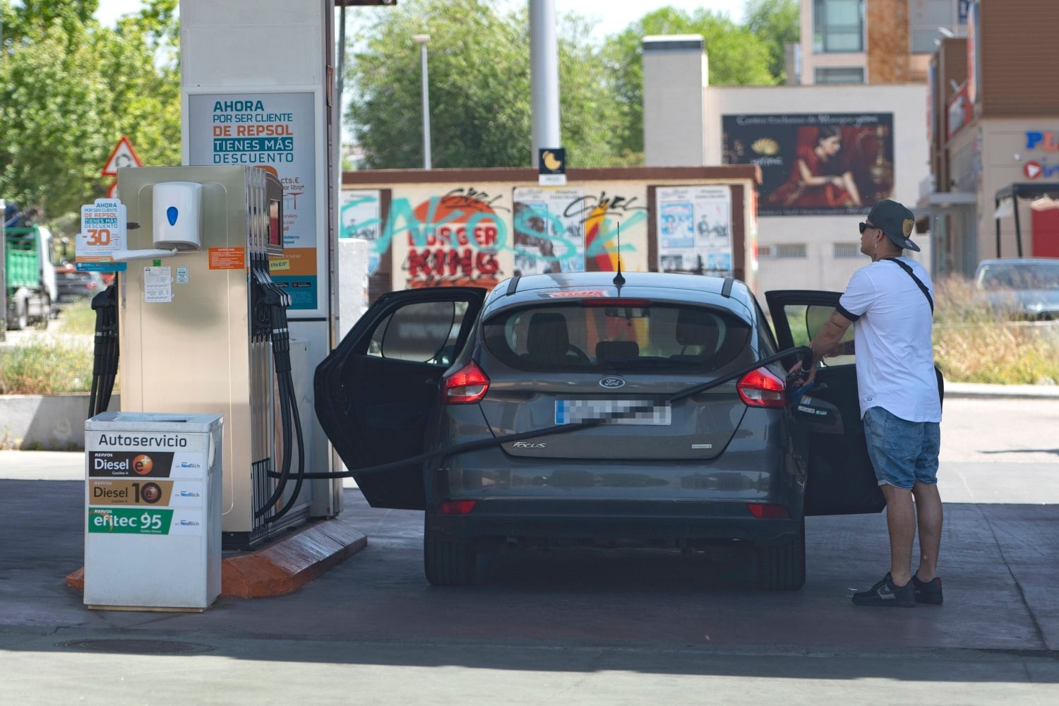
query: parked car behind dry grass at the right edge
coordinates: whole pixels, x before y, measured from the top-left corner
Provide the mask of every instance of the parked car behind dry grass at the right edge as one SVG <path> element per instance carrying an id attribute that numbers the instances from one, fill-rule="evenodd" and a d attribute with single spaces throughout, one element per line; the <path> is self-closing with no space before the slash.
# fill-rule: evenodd
<path id="1" fill-rule="evenodd" d="M 1059 319 L 1059 258 L 982 260 L 974 286 L 999 311 L 1027 319 Z"/>

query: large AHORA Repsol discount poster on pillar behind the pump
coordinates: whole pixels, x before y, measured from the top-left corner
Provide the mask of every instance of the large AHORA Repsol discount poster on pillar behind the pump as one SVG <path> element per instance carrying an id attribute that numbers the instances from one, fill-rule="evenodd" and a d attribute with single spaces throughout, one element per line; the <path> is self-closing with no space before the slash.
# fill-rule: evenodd
<path id="1" fill-rule="evenodd" d="M 317 309 L 317 184 L 312 93 L 187 96 L 192 165 L 247 165 L 283 184 L 283 245 L 289 269 L 273 279 L 291 309 Z"/>

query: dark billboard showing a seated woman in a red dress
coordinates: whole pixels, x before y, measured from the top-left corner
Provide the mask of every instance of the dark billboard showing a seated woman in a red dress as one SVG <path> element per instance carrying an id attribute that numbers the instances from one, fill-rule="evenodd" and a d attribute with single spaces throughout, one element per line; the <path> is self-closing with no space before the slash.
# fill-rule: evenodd
<path id="1" fill-rule="evenodd" d="M 724 164 L 761 168 L 758 215 L 865 214 L 894 192 L 893 113 L 724 115 Z"/>

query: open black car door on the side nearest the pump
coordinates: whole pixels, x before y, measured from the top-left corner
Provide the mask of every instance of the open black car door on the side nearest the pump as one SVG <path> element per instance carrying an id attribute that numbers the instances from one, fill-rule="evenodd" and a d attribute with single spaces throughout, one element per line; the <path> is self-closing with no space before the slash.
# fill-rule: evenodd
<path id="1" fill-rule="evenodd" d="M 383 294 L 317 366 L 317 417 L 352 471 L 424 453 L 442 375 L 467 342 L 486 290 Z M 357 474 L 372 507 L 421 510 L 421 466 Z"/>

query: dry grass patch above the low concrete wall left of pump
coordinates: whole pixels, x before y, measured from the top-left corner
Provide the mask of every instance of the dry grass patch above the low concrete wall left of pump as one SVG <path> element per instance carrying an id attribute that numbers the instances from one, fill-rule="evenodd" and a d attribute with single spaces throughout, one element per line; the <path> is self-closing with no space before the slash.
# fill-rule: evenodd
<path id="1" fill-rule="evenodd" d="M 0 395 L 77 393 L 91 385 L 90 344 L 39 339 L 0 349 Z"/>

